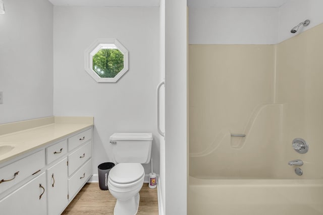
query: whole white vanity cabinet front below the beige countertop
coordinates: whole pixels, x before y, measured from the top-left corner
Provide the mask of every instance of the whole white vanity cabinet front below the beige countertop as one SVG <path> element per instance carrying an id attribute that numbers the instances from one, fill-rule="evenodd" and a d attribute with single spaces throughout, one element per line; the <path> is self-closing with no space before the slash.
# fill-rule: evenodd
<path id="1" fill-rule="evenodd" d="M 0 163 L 0 214 L 59 215 L 92 176 L 92 126 Z"/>

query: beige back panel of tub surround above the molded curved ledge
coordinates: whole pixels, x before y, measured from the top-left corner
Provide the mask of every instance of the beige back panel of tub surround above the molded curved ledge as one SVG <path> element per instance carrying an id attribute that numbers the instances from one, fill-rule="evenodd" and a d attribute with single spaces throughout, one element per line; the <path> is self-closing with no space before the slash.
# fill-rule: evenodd
<path id="1" fill-rule="evenodd" d="M 190 153 L 221 130 L 242 133 L 259 104 L 273 103 L 274 45 L 189 45 Z"/>

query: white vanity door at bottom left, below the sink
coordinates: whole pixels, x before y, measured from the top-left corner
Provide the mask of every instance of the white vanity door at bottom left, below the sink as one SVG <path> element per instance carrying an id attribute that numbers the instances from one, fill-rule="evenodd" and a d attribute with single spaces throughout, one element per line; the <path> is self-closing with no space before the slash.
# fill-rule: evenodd
<path id="1" fill-rule="evenodd" d="M 10 195 L 0 200 L 0 213 L 17 214 L 46 214 L 46 176 L 40 174 Z"/>

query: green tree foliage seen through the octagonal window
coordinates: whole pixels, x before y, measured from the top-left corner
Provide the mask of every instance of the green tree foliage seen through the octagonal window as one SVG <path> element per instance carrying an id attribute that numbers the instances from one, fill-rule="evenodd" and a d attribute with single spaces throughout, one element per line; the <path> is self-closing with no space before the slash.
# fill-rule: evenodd
<path id="1" fill-rule="evenodd" d="M 93 70 L 101 78 L 114 78 L 123 69 L 124 56 L 119 49 L 100 49 L 93 56 Z"/>

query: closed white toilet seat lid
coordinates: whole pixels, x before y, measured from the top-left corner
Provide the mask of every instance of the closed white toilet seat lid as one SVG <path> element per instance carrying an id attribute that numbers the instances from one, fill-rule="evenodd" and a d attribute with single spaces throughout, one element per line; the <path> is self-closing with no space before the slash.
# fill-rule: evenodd
<path id="1" fill-rule="evenodd" d="M 139 163 L 120 163 L 109 172 L 109 179 L 115 186 L 131 186 L 144 176 L 145 171 Z"/>

